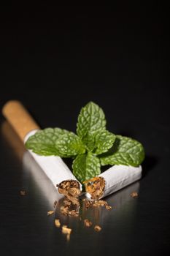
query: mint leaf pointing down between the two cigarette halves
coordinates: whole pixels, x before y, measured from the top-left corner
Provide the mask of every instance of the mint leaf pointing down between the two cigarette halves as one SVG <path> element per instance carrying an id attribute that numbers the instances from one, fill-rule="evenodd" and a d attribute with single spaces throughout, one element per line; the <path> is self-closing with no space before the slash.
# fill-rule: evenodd
<path id="1" fill-rule="evenodd" d="M 73 174 L 80 182 L 93 178 L 101 173 L 100 160 L 93 156 L 91 152 L 88 154 L 78 155 L 73 161 Z"/>

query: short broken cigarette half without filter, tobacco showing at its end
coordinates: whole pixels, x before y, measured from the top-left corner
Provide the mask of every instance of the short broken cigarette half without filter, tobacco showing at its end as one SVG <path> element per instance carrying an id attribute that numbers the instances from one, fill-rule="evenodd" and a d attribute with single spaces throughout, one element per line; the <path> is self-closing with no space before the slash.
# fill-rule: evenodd
<path id="1" fill-rule="evenodd" d="M 142 166 L 133 167 L 114 165 L 104 173 L 85 181 L 86 196 L 90 199 L 101 199 L 142 177 Z"/>

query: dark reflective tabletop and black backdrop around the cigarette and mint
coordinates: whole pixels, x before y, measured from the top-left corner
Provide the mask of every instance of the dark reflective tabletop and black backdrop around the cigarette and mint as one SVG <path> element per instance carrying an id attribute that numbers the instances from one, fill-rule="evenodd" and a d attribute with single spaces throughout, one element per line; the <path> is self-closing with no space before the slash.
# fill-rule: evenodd
<path id="1" fill-rule="evenodd" d="M 169 18 L 158 3 L 133 7 L 1 8 L 0 108 L 18 99 L 42 128 L 75 131 L 93 100 L 110 131 L 146 151 L 142 179 L 107 198 L 112 211 L 82 212 L 100 233 L 56 211 L 68 239 L 47 217 L 58 195 L 0 114 L 1 255 L 168 254 Z"/>

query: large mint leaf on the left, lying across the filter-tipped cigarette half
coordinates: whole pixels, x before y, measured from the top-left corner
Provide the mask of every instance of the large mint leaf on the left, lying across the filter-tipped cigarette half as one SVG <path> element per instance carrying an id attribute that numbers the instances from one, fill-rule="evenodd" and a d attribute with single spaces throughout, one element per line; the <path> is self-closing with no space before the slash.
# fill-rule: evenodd
<path id="1" fill-rule="evenodd" d="M 69 133 L 69 131 L 60 128 L 42 129 L 28 138 L 25 145 L 27 149 L 31 149 L 34 153 L 42 156 L 54 155 L 63 157 L 58 151 L 58 148 L 56 148 L 55 142 L 58 138 L 67 133 Z"/>

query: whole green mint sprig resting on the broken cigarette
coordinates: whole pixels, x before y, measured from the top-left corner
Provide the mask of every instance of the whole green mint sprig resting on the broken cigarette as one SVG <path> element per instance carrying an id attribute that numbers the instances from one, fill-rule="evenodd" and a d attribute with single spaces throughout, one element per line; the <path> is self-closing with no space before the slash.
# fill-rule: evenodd
<path id="1" fill-rule="evenodd" d="M 80 182 L 100 174 L 101 165 L 139 166 L 144 160 L 141 143 L 107 131 L 104 111 L 94 102 L 80 111 L 77 135 L 46 128 L 28 138 L 26 148 L 44 156 L 72 157 L 73 173 Z"/>

